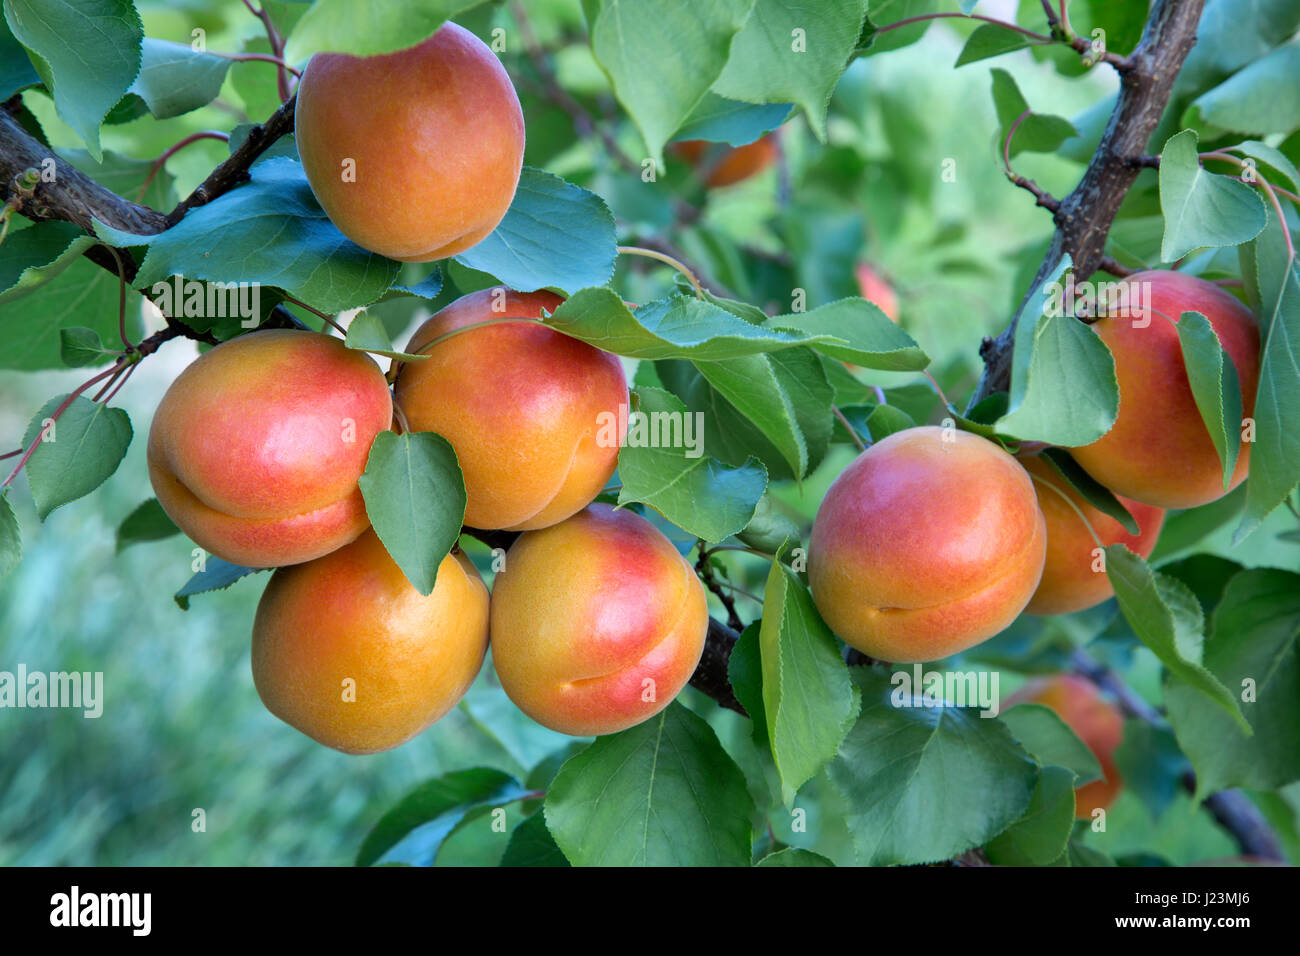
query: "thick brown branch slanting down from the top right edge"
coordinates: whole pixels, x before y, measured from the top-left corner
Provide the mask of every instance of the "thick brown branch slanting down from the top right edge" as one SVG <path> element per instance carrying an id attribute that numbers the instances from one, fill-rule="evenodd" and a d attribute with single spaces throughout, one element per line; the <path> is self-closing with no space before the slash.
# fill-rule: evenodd
<path id="1" fill-rule="evenodd" d="M 985 341 L 980 349 L 984 373 L 971 397 L 971 407 L 1009 386 L 1011 349 L 1020 312 L 1062 256 L 1069 255 L 1072 260 L 1076 280 L 1087 278 L 1101 267 L 1110 225 L 1141 172 L 1135 157 L 1145 155 L 1169 104 L 1174 79 L 1196 43 L 1196 26 L 1204 5 L 1204 0 L 1154 0 L 1152 4 L 1141 43 L 1132 56 L 1123 59 L 1119 99 L 1097 152 L 1079 185 L 1056 211 L 1057 229 L 1052 246 L 1017 316 L 997 338 Z"/>

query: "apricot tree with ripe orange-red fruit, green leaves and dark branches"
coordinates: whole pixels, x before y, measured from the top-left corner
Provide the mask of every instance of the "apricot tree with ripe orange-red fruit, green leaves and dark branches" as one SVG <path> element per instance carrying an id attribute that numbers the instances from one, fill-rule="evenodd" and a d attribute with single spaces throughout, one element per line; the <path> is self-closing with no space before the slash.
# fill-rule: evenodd
<path id="1" fill-rule="evenodd" d="M 274 568 L 244 693 L 346 753 L 472 685 L 594 737 L 359 864 L 510 805 L 491 862 L 1108 865 L 1178 791 L 1294 861 L 1300 8 L 985 5 L 3 0 L 0 367 L 92 371 L 23 410 L 0 572 L 188 339 L 120 540 L 192 541 L 182 609 Z M 983 160 L 906 49 L 988 81 Z"/>

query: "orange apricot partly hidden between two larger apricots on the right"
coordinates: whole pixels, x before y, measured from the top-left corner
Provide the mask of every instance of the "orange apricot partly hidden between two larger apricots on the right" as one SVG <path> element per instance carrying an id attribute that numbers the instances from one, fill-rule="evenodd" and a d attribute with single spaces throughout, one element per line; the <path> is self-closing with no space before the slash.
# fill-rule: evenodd
<path id="1" fill-rule="evenodd" d="M 1039 494 L 1039 507 L 1043 509 L 1048 528 L 1043 580 L 1030 598 L 1026 614 L 1070 614 L 1095 607 L 1115 592 L 1110 587 L 1105 566 L 1097 563 L 1093 554 L 1097 542 L 1088 533 L 1084 519 L 1097 533 L 1102 548 L 1123 544 L 1147 558 L 1156 549 L 1160 528 L 1165 523 L 1165 510 L 1117 496 L 1138 522 L 1138 533 L 1130 535 L 1114 518 L 1084 501 L 1040 455 L 1026 455 L 1019 462 L 1034 476 L 1034 489 Z M 1070 507 L 1062 496 L 1079 511 Z M 1079 512 L 1083 512 L 1083 518 L 1079 518 Z"/>

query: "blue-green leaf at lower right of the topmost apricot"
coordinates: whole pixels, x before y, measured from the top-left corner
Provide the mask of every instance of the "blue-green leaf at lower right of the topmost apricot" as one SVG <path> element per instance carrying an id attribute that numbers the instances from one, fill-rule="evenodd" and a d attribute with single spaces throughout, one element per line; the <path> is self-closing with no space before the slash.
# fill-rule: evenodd
<path id="1" fill-rule="evenodd" d="M 500 224 L 455 259 L 511 289 L 572 293 L 614 274 L 614 215 L 594 193 L 543 169 L 524 166 Z"/>

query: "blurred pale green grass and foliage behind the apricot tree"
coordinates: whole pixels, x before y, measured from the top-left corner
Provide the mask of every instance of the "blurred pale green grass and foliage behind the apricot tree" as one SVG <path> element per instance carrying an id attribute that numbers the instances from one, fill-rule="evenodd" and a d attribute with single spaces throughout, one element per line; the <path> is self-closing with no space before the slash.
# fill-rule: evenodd
<path id="1" fill-rule="evenodd" d="M 136 5 L 150 36 L 188 43 L 202 29 L 213 51 L 266 48 L 260 25 L 239 0 Z M 303 9 L 276 0 L 266 7 L 282 26 Z M 642 155 L 634 127 L 620 117 L 585 46 L 577 0 L 537 0 L 526 8 L 560 85 L 608 124 L 629 156 Z M 1010 16 L 1014 4 L 991 4 L 987 12 Z M 854 62 L 831 101 L 828 142 L 819 143 L 802 116 L 793 118 L 781 127 L 783 159 L 776 165 L 706 194 L 671 153 L 659 181 L 644 183 L 598 140 L 580 140 L 569 116 L 546 99 L 543 78 L 517 42 L 508 7 L 490 4 L 459 22 L 484 39 L 494 27 L 504 30 L 502 57 L 528 125 L 525 161 L 604 196 L 619 221 L 620 241 L 668 238 L 716 285 L 770 312 L 788 311 L 794 287 L 806 290 L 809 308 L 858 294 L 853 267 L 868 261 L 897 290 L 901 324 L 933 358 L 949 397 L 961 403 L 970 393 L 980 338 L 1013 313 L 1052 222 L 1004 178 L 989 61 L 950 68 L 968 27 L 941 23 L 915 46 Z M 1078 117 L 1115 90 L 1109 70 L 1067 77 L 1028 51 L 1000 57 L 996 66 L 1017 79 L 1036 112 Z M 29 92 L 23 100 L 53 146 L 81 146 L 47 98 Z M 274 68 L 235 62 L 216 103 L 172 120 L 144 117 L 107 126 L 103 143 L 118 156 L 147 161 L 191 133 L 257 122 L 277 105 Z M 1022 153 L 1017 170 L 1063 195 L 1091 150 L 1067 144 L 1062 155 Z M 166 170 L 174 177 L 174 195 L 185 195 L 225 155 L 224 143 L 203 140 L 172 157 Z M 940 174 L 945 164 L 950 181 Z M 166 178 L 161 183 L 165 194 L 172 185 Z M 675 209 L 666 202 L 670 194 L 684 204 Z M 166 207 L 172 199 L 162 195 L 156 202 Z M 1158 232 L 1154 235 L 1158 243 Z M 463 267 L 452 267 L 433 308 L 477 281 Z M 628 300 L 646 302 L 673 281 L 670 271 L 636 259 L 620 263 L 615 287 Z M 374 311 L 402 338 L 422 320 L 426 306 L 408 298 Z M 148 316 L 146 323 L 157 324 Z M 0 714 L 0 864 L 348 864 L 380 814 L 415 784 L 472 766 L 524 779 L 571 743 L 515 710 L 490 666 L 456 710 L 384 754 L 335 753 L 266 713 L 248 667 L 252 617 L 265 578 L 196 597 L 182 611 L 172 594 L 191 572 L 188 541 L 172 537 L 116 550 L 117 524 L 152 494 L 144 466 L 152 408 L 195 354 L 192 342 L 169 343 L 124 390 L 120 403 L 131 416 L 135 441 L 101 489 L 55 511 L 43 524 L 21 479 L 12 496 L 25 557 L 0 580 L 0 670 L 25 663 L 29 671 L 103 671 L 105 702 L 99 719 L 55 709 Z M 48 397 L 83 377 L 75 371 L 0 375 L 0 433 L 9 436 L 6 444 L 17 444 Z M 918 420 L 941 418 L 932 394 L 907 376 L 883 373 L 871 384 L 904 386 L 897 394 L 907 395 Z M 783 506 L 806 527 L 852 457 L 850 446 L 832 446 L 801 485 L 781 488 Z M 1290 527 L 1290 516 L 1282 515 L 1275 512 L 1273 524 L 1240 550 L 1228 551 L 1226 528 L 1199 550 L 1247 566 L 1295 568 L 1296 545 L 1278 538 L 1278 531 Z M 486 549 L 467 546 L 488 570 Z M 764 562 L 736 554 L 718 559 L 741 592 L 762 593 Z M 758 613 L 742 593 L 738 605 L 746 620 Z M 723 617 L 720 607 L 714 610 Z M 1071 643 L 1104 632 L 1092 649 L 1105 650 L 1108 662 L 1121 667 L 1139 692 L 1158 701 L 1156 658 L 1114 618 L 1110 602 L 1070 618 L 1028 620 L 968 657 L 980 666 L 1010 669 L 1002 671 L 1005 695 L 1018 680 L 1015 670 L 1058 669 Z M 766 779 L 744 718 L 692 689 L 682 700 L 714 724 L 751 787 L 775 786 Z M 768 839 L 852 862 L 840 800 L 823 777 L 815 778 L 798 800 L 807 810 L 806 831 L 793 832 L 789 814 L 777 812 L 768 821 Z M 1297 806 L 1295 787 L 1270 796 L 1266 806 L 1292 855 Z M 199 809 L 205 814 L 202 832 L 192 826 Z M 510 808 L 507 831 L 519 812 Z M 438 864 L 494 864 L 506 838 L 486 825 L 465 826 L 446 844 Z M 1131 790 L 1113 806 L 1109 831 L 1089 834 L 1088 842 L 1119 857 L 1175 864 L 1235 852 L 1186 795 L 1171 793 L 1164 813 L 1153 818 Z"/>

